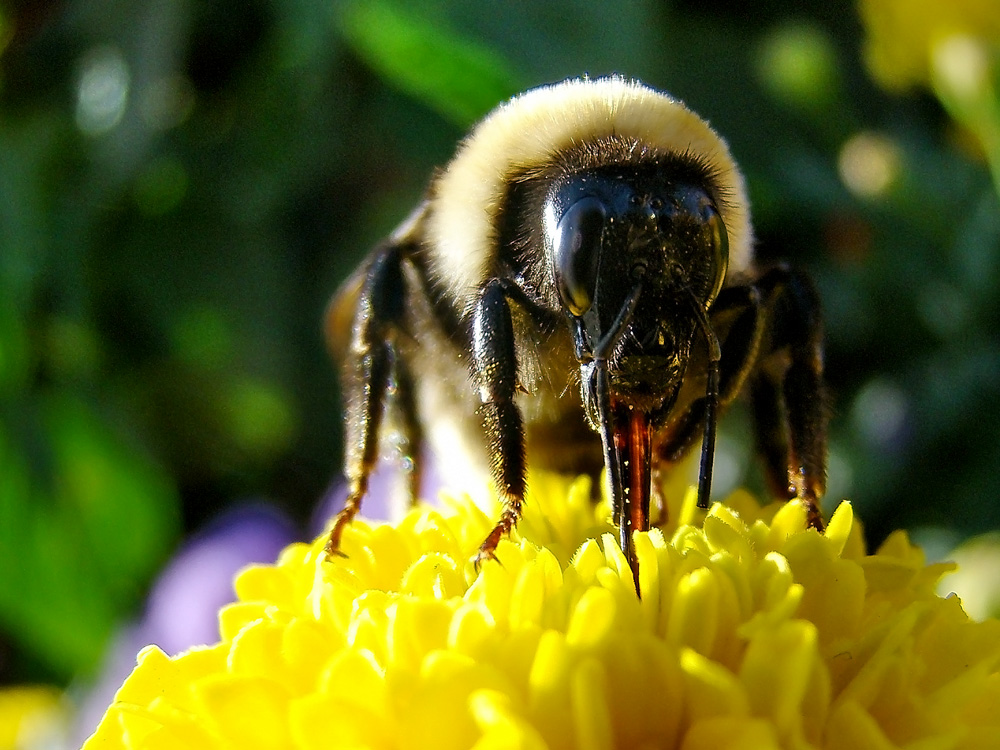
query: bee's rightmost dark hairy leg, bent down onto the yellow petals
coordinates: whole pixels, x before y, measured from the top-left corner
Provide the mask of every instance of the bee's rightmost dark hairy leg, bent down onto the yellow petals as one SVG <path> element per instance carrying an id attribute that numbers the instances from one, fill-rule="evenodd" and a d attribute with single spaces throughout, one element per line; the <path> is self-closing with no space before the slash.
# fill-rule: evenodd
<path id="1" fill-rule="evenodd" d="M 787 266 L 773 268 L 757 286 L 769 318 L 751 390 L 759 450 L 779 496 L 803 502 L 809 525 L 822 530 L 829 407 L 819 296 L 805 274 Z"/>

